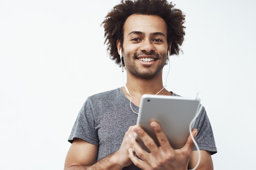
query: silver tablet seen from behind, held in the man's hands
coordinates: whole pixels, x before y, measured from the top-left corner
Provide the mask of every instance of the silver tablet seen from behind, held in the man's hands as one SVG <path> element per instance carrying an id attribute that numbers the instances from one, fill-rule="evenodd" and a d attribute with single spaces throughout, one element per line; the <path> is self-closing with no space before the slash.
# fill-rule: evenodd
<path id="1" fill-rule="evenodd" d="M 142 95 L 137 125 L 141 126 L 159 147 L 150 122 L 157 121 L 173 149 L 182 148 L 189 137 L 189 124 L 200 107 L 200 99 L 167 95 Z M 192 127 L 193 128 L 193 127 Z M 136 136 L 139 145 L 150 152 Z"/>

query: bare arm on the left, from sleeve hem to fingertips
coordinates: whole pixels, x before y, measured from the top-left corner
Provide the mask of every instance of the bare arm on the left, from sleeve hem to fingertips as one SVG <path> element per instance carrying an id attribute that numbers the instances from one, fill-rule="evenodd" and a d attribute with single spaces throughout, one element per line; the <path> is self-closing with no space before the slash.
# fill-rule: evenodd
<path id="1" fill-rule="evenodd" d="M 75 138 L 65 160 L 65 170 L 121 170 L 132 164 L 128 148 L 131 148 L 130 136 L 132 126 L 124 135 L 122 144 L 117 152 L 96 162 L 98 146 L 83 139 Z M 129 135 L 130 134 L 130 135 Z"/>

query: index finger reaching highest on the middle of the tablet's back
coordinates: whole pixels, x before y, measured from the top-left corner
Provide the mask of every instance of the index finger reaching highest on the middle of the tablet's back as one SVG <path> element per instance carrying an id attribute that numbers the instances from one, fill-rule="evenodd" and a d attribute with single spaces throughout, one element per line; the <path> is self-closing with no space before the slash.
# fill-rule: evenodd
<path id="1" fill-rule="evenodd" d="M 158 140 L 161 148 L 163 150 L 171 150 L 171 152 L 172 151 L 174 152 L 174 150 L 171 147 L 171 145 L 170 145 L 170 143 L 168 141 L 168 138 L 164 134 L 164 131 L 162 130 L 161 126 L 157 122 L 155 122 L 155 121 L 151 122 L 150 126 L 154 130 L 155 135 L 157 136 L 157 140 Z"/>

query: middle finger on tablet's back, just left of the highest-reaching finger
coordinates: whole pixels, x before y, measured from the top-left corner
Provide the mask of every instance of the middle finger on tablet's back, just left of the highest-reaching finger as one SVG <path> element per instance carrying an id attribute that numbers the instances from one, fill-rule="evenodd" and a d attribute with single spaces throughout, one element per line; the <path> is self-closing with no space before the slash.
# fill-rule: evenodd
<path id="1" fill-rule="evenodd" d="M 155 141 L 140 126 L 135 126 L 133 130 L 137 133 L 150 152 L 155 154 L 159 152 L 159 148 L 155 144 Z"/>

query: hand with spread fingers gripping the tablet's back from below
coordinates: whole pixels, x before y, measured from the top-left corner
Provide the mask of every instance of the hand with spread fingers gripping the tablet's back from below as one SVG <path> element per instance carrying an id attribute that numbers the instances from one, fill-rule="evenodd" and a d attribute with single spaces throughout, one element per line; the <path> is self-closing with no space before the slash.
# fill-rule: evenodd
<path id="1" fill-rule="evenodd" d="M 187 170 L 194 146 L 190 135 L 184 147 L 174 150 L 161 126 L 156 122 L 151 122 L 150 126 L 157 136 L 160 147 L 157 147 L 153 139 L 141 127 L 134 126 L 133 130 L 151 152 L 148 153 L 143 150 L 135 140 L 135 137 L 132 136 L 132 147 L 129 148 L 129 157 L 135 166 L 143 170 Z M 195 138 L 197 129 L 193 129 L 192 133 Z M 142 160 L 133 154 L 132 148 Z"/>

